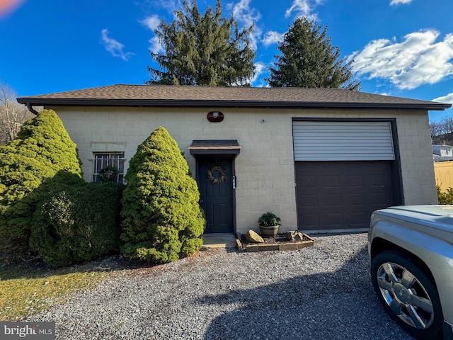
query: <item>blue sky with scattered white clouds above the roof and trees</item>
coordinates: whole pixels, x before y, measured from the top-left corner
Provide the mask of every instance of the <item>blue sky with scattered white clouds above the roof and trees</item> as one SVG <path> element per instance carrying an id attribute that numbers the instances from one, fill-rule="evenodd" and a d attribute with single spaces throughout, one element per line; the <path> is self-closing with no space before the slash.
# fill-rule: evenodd
<path id="1" fill-rule="evenodd" d="M 215 0 L 198 0 L 198 8 Z M 257 76 L 298 16 L 328 28 L 354 60 L 362 91 L 453 103 L 452 0 L 224 0 L 240 26 L 255 23 Z M 18 96 L 111 84 L 144 84 L 158 67 L 154 28 L 173 20 L 179 0 L 0 0 L 0 81 Z M 453 109 L 430 112 L 436 121 Z"/>

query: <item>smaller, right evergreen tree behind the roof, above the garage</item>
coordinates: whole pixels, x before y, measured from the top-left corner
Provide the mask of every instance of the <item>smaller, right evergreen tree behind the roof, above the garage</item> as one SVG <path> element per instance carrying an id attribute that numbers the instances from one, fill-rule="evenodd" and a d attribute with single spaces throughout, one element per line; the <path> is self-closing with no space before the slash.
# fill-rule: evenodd
<path id="1" fill-rule="evenodd" d="M 331 46 L 327 28 L 314 21 L 296 18 L 278 45 L 276 68 L 266 79 L 272 87 L 343 88 L 359 90 L 352 79 L 352 61 L 340 58 L 340 49 Z"/>

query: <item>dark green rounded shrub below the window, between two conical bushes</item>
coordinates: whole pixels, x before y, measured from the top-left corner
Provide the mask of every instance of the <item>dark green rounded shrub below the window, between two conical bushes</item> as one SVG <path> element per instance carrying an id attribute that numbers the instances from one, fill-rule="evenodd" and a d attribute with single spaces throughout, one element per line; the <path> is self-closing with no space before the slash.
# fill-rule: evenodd
<path id="1" fill-rule="evenodd" d="M 118 183 L 54 186 L 33 216 L 30 246 L 53 266 L 118 252 L 123 188 Z"/>

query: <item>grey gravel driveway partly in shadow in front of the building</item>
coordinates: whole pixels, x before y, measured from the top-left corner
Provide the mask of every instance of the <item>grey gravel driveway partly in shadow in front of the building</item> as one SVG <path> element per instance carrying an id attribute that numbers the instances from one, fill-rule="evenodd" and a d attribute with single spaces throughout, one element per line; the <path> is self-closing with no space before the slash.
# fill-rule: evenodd
<path id="1" fill-rule="evenodd" d="M 57 339 L 412 339 L 369 280 L 367 235 L 314 235 L 297 251 L 207 249 L 117 269 L 115 278 L 27 321 Z"/>

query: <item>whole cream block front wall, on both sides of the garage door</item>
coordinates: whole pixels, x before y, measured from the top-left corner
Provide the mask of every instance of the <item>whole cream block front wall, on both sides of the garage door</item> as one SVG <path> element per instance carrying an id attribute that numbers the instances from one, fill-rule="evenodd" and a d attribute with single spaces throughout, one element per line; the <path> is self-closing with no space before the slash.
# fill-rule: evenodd
<path id="1" fill-rule="evenodd" d="M 236 232 L 258 229 L 261 213 L 282 218 L 282 231 L 297 229 L 292 118 L 396 118 L 401 176 L 406 204 L 437 202 L 426 111 L 277 110 L 270 108 L 95 108 L 55 107 L 79 148 L 84 178 L 91 181 L 93 152 L 125 152 L 125 167 L 151 132 L 164 126 L 188 160 L 195 176 L 193 140 L 238 140 Z M 222 111 L 210 123 L 210 111 Z"/>

